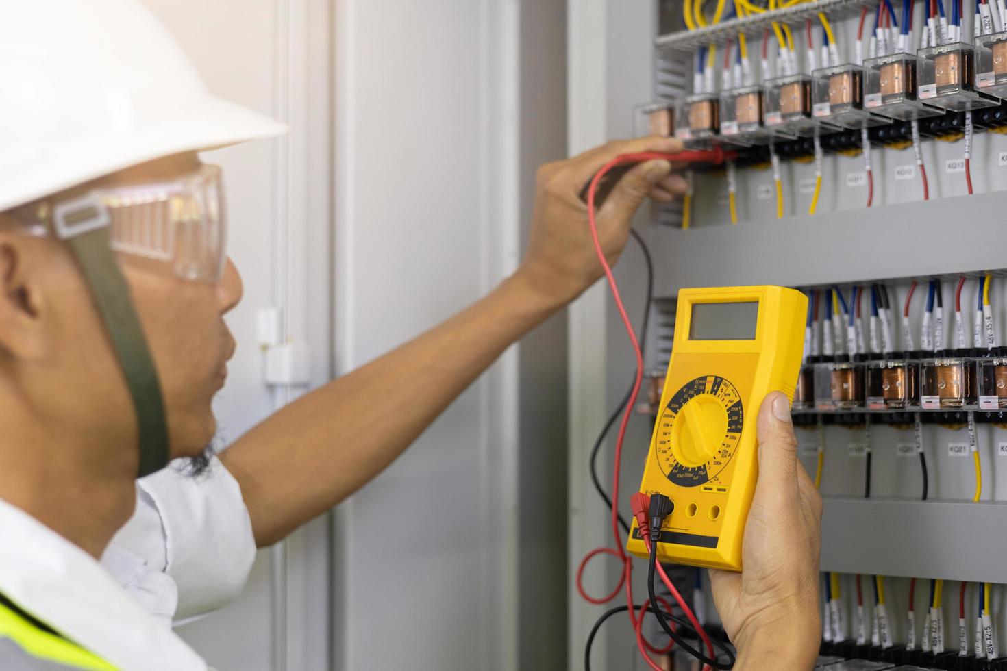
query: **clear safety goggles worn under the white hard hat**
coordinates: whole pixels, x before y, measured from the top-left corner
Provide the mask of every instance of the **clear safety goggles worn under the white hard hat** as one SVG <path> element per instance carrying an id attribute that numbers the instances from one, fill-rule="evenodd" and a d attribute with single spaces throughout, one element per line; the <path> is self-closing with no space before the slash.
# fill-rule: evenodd
<path id="1" fill-rule="evenodd" d="M 10 214 L 25 232 L 60 239 L 107 226 L 113 249 L 183 280 L 219 282 L 227 261 L 224 186 L 215 165 L 170 180 L 43 199 Z"/>

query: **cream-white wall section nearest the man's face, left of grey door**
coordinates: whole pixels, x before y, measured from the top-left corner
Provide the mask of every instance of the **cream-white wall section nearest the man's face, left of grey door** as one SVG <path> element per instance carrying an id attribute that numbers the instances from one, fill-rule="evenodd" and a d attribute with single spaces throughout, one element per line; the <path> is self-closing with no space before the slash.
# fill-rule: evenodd
<path id="1" fill-rule="evenodd" d="M 330 10 L 325 0 L 143 2 L 214 94 L 293 129 L 203 156 L 225 170 L 229 251 L 245 281 L 228 317 L 239 347 L 217 403 L 231 441 L 300 391 L 262 381 L 260 309 L 281 308 L 285 334 L 309 344 L 314 384 L 330 377 Z M 261 551 L 242 599 L 179 633 L 220 671 L 328 669 L 328 544 L 320 520 Z"/>

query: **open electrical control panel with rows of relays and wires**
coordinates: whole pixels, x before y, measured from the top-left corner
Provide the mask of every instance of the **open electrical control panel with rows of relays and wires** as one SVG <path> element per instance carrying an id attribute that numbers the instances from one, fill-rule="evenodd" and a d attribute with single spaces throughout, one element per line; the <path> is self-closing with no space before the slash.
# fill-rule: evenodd
<path id="1" fill-rule="evenodd" d="M 654 7 L 653 25 L 640 22 L 653 28 L 650 100 L 612 94 L 632 115 L 613 137 L 671 128 L 735 159 L 686 168 L 687 195 L 640 228 L 662 326 L 649 331 L 623 488 L 642 472 L 654 491 L 645 432 L 689 382 L 664 373 L 683 338 L 678 292 L 801 291 L 793 415 L 824 500 L 820 668 L 1007 669 L 1007 8 Z M 623 60 L 612 67 L 644 66 Z M 623 282 L 641 287 L 631 263 Z M 622 344 L 608 357 L 625 361 Z M 709 582 L 695 580 L 692 604 L 715 631 Z M 673 668 L 693 668 L 676 655 Z"/>

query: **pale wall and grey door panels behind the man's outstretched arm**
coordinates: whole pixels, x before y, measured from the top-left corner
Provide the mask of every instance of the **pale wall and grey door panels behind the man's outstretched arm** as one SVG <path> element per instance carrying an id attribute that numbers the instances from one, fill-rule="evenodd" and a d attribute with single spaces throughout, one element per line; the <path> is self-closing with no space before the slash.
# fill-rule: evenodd
<path id="1" fill-rule="evenodd" d="M 294 129 L 211 157 L 246 279 L 230 438 L 285 397 L 260 380 L 258 308 L 285 309 L 320 383 L 333 342 L 341 374 L 516 268 L 534 166 L 565 154 L 562 0 L 144 2 L 214 93 Z M 221 671 L 562 666 L 565 384 L 560 316 L 181 633 Z"/>

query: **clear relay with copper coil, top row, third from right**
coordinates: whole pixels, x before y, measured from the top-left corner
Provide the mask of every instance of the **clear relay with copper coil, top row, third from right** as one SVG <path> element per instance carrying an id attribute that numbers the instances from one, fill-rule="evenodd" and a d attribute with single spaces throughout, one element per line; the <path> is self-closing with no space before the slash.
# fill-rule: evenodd
<path id="1" fill-rule="evenodd" d="M 864 61 L 864 107 L 890 119 L 910 121 L 943 114 L 916 97 L 916 56 L 891 53 Z"/>

